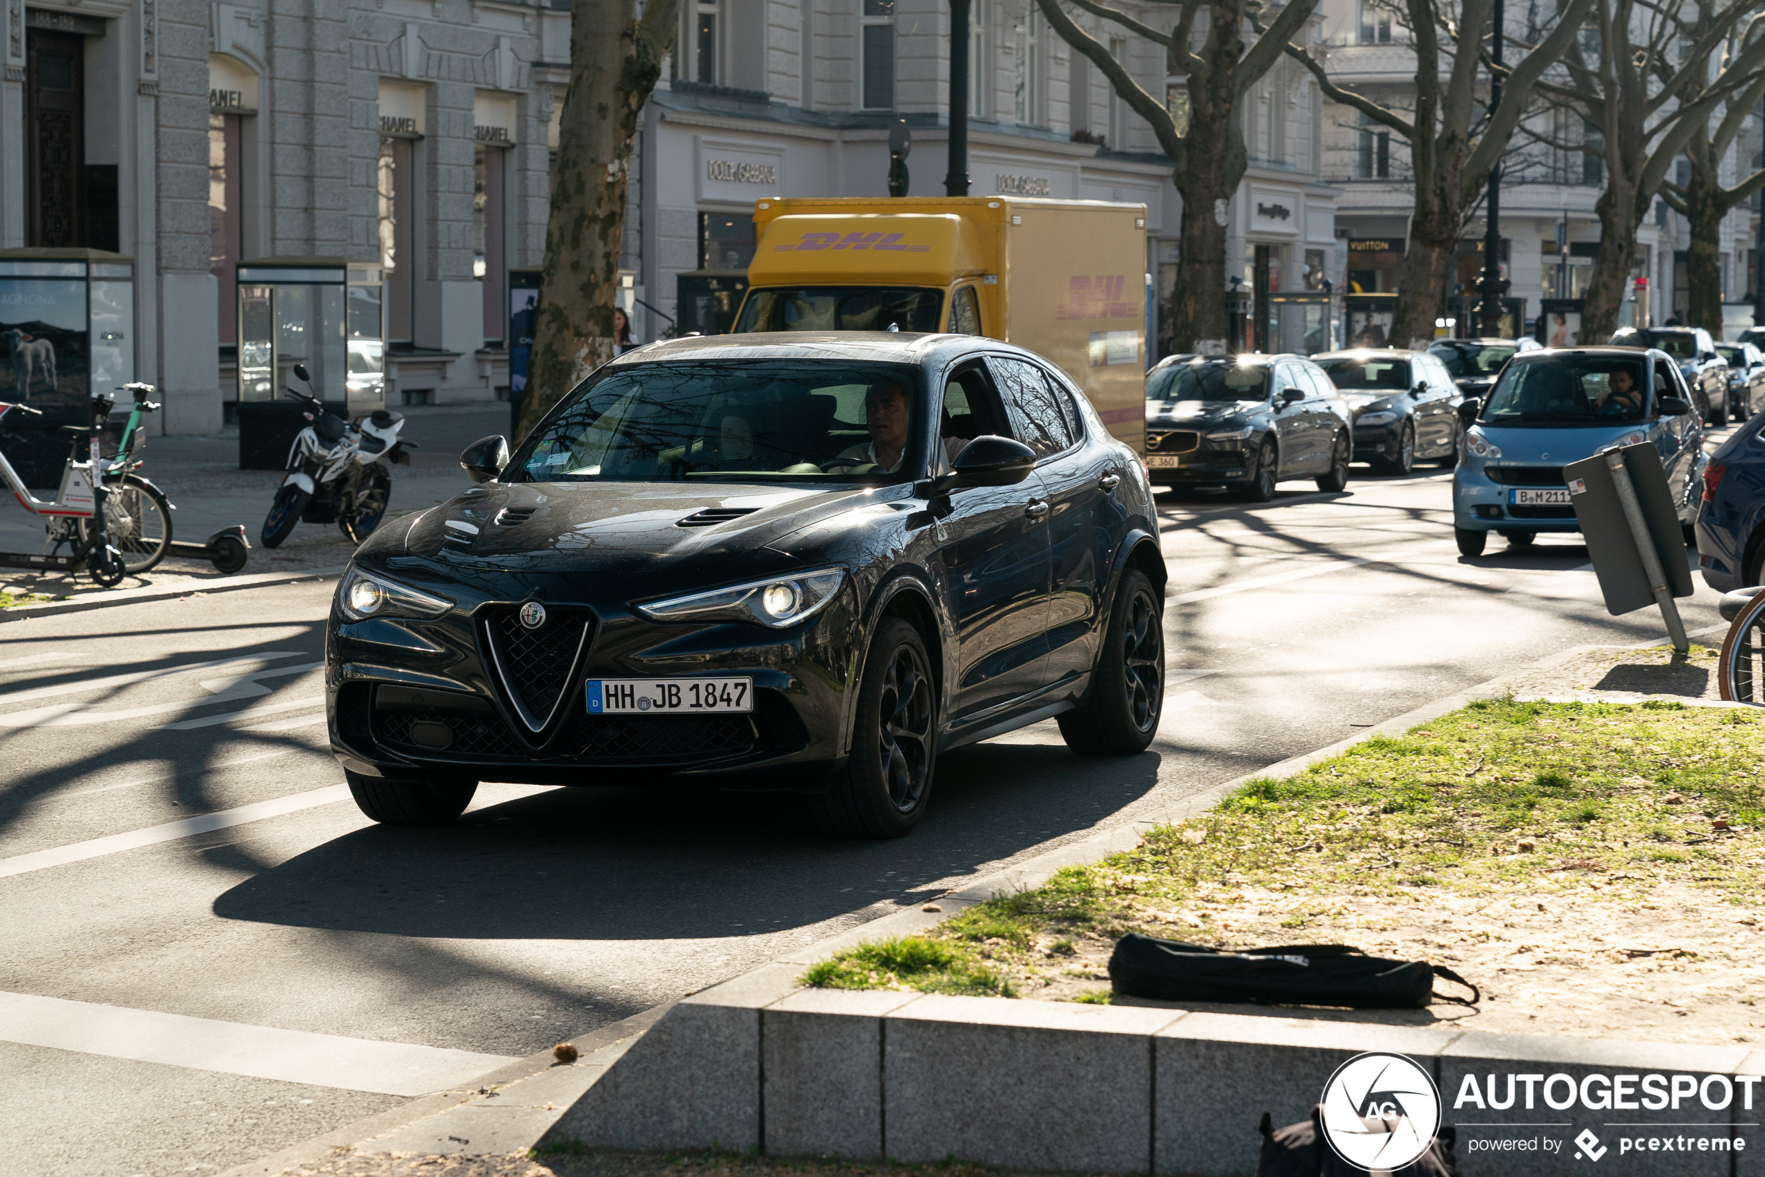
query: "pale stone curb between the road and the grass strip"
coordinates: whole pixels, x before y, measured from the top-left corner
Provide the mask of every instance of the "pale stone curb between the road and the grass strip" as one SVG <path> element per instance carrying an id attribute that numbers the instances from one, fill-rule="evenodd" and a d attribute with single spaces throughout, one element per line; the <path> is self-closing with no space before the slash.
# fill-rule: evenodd
<path id="1" fill-rule="evenodd" d="M 1728 626 L 1709 626 L 1698 630 L 1691 637 L 1726 628 Z M 1636 642 L 1636 644 L 1573 646 L 1548 658 L 1539 658 L 1537 662 L 1516 667 L 1498 678 L 1477 683 L 1474 686 L 1453 692 L 1449 695 L 1442 695 L 1440 699 L 1435 699 L 1419 708 L 1405 711 L 1403 715 L 1393 716 L 1382 723 L 1375 723 L 1368 729 L 1354 732 L 1347 739 L 1338 739 L 1336 743 L 1326 745 L 1313 752 L 1294 755 L 1285 761 L 1269 764 L 1267 768 L 1244 773 L 1243 776 L 1236 776 L 1223 783 L 1211 785 L 1198 792 L 1191 792 L 1174 803 L 1172 808 L 1179 810 L 1174 813 L 1174 817 L 1183 819 L 1193 813 L 1205 812 L 1214 805 L 1218 805 L 1227 794 L 1230 794 L 1236 789 L 1241 789 L 1251 780 L 1262 780 L 1262 778 L 1280 780 L 1285 776 L 1294 776 L 1304 771 L 1308 766 L 1315 764 L 1317 761 L 1338 755 L 1364 739 L 1371 739 L 1373 736 L 1398 736 L 1408 731 L 1410 727 L 1426 723 L 1430 720 L 1437 720 L 1442 715 L 1456 711 L 1477 699 L 1502 697 L 1504 693 L 1507 693 L 1507 683 L 1511 679 L 1518 679 L 1521 676 L 1534 674 L 1537 671 L 1548 671 L 1551 667 L 1557 667 L 1564 662 L 1576 658 L 1578 655 L 1596 649 L 1647 649 L 1652 646 L 1664 646 L 1664 644 L 1666 639 L 1656 642 Z M 784 985 L 785 988 L 794 988 L 794 979 L 796 976 L 801 974 L 805 967 L 819 960 L 824 960 L 826 956 L 831 956 L 840 949 L 852 948 L 854 944 L 861 944 L 865 941 L 875 941 L 891 935 L 921 933 L 943 923 L 944 919 L 950 919 L 951 916 L 965 911 L 967 907 L 983 903 L 999 893 L 1041 886 L 1063 866 L 1082 866 L 1094 863 L 1101 858 L 1107 858 L 1108 854 L 1114 854 L 1117 851 L 1130 851 L 1135 845 L 1138 845 L 1142 831 L 1145 828 L 1165 824 L 1167 821 L 1170 819 L 1161 817 L 1158 821 L 1126 821 L 1117 826 L 1100 829 L 1087 838 L 1078 838 L 1075 842 L 1068 842 L 1066 845 L 1038 854 L 1036 858 L 1031 858 L 1024 863 L 994 872 L 992 875 L 987 875 L 983 879 L 976 879 L 964 888 L 937 896 L 930 903 L 927 903 L 925 898 L 921 896 L 914 900 L 913 905 L 904 907 L 902 911 L 881 916 L 856 928 L 838 932 L 814 944 L 807 944 L 792 953 L 778 956 L 771 962 L 748 969 L 747 972 L 740 972 L 725 981 L 718 981 L 717 985 L 701 990 L 699 1002 L 702 1002 L 711 993 L 711 990 L 717 990 L 718 995 L 727 995 L 736 999 L 748 997 L 754 1002 L 752 1008 L 757 1009 L 761 1004 L 770 1004 L 773 1001 L 780 985 Z M 688 993 L 688 999 L 690 997 L 694 995 Z M 676 1004 L 678 1002 L 665 1002 L 660 1006 L 653 1006 L 621 1022 L 614 1022 L 612 1025 L 605 1025 L 598 1031 L 570 1039 L 582 1055 L 581 1062 L 577 1062 L 575 1066 L 582 1068 L 586 1064 L 588 1068 L 593 1069 L 593 1075 L 584 1073 L 577 1080 L 577 1085 L 586 1089 L 590 1083 L 595 1082 L 595 1078 L 598 1078 L 600 1073 L 604 1073 L 605 1066 L 611 1064 L 611 1062 L 600 1064 L 593 1061 L 590 1055 L 597 1052 L 605 1052 L 609 1046 L 618 1046 L 618 1045 L 630 1046 L 651 1025 L 660 1022 L 662 1016 Z M 623 1053 L 623 1050 L 618 1053 Z M 353 1124 L 346 1124 L 342 1128 L 337 1128 L 321 1136 L 314 1136 L 302 1143 L 291 1145 L 259 1161 L 231 1168 L 221 1173 L 219 1177 L 279 1177 L 281 1173 L 295 1170 L 300 1165 L 311 1165 L 319 1159 L 332 1158 L 341 1151 L 355 1149 L 362 1152 L 385 1152 L 392 1149 L 390 1142 L 392 1136 L 395 1135 L 408 1136 L 411 1135 L 411 1129 L 422 1128 L 425 1121 L 445 1124 L 447 1121 L 438 1117 L 447 1117 L 448 1113 L 454 1113 L 454 1117 L 471 1115 L 471 1108 L 475 1105 L 482 1105 L 484 1096 L 480 1092 L 485 1087 L 498 1089 L 503 1085 L 519 1083 L 522 1080 L 531 1080 L 549 1071 L 552 1071 L 551 1052 L 530 1055 L 526 1059 L 521 1059 L 519 1062 L 510 1062 L 508 1066 L 498 1071 L 492 1071 L 485 1076 L 473 1080 L 471 1089 L 436 1092 L 406 1105 L 387 1108 L 385 1112 L 365 1117 Z M 438 1133 L 427 1143 L 424 1152 L 489 1156 L 489 1154 L 507 1154 L 521 1147 L 533 1147 L 542 1138 L 545 1138 L 545 1135 L 552 1129 L 554 1122 L 560 1117 L 563 1117 L 567 1110 L 568 1108 L 565 1106 L 551 1110 L 545 1117 L 540 1117 L 544 1119 L 544 1124 L 530 1119 L 528 1124 L 538 1128 L 540 1131 L 530 1133 L 530 1136 L 521 1142 L 510 1142 L 507 1135 L 492 1135 L 485 1138 L 484 1135 L 473 1131 L 471 1135 L 462 1136 L 464 1143 L 452 1147 L 452 1142 L 447 1140 L 447 1135 Z M 471 1140 L 475 1138 L 480 1142 L 480 1147 L 494 1145 L 494 1152 L 480 1152 L 480 1149 L 471 1147 Z M 379 1147 L 374 1147 L 376 1143 Z M 397 1143 L 408 1147 L 409 1142 L 399 1140 Z"/>

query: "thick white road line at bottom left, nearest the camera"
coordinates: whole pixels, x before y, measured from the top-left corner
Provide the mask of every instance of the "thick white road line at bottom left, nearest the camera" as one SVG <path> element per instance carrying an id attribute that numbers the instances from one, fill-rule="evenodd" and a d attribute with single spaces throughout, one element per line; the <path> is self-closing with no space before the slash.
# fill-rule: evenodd
<path id="1" fill-rule="evenodd" d="M 383 1096 L 427 1096 L 515 1061 L 4 992 L 0 1041 Z"/>

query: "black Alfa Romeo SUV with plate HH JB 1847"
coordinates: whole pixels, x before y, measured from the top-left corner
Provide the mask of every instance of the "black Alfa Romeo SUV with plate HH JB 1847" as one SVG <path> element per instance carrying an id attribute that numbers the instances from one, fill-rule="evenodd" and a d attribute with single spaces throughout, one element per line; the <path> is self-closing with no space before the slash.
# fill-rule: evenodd
<path id="1" fill-rule="evenodd" d="M 653 344 L 461 466 L 477 485 L 381 526 L 332 605 L 332 750 L 374 821 L 448 822 L 480 780 L 676 780 L 888 838 L 939 752 L 1158 729 L 1145 469 L 1010 344 Z"/>

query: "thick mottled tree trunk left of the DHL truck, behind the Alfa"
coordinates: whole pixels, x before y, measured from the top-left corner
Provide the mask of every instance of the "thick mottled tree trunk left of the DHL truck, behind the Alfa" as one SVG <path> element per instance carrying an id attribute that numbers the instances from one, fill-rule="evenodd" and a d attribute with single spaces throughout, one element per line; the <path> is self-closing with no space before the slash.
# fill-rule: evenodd
<path id="1" fill-rule="evenodd" d="M 674 46 L 678 0 L 575 0 L 570 90 L 558 122 L 545 263 L 521 434 L 612 358 L 612 295 L 637 115 Z"/>

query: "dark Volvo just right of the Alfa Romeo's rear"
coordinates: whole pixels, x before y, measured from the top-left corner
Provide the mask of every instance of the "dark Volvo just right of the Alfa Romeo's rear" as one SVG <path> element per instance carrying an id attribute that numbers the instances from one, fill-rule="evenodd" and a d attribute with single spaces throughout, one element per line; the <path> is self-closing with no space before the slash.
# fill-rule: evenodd
<path id="1" fill-rule="evenodd" d="M 1348 406 L 1296 355 L 1170 356 L 1145 374 L 1145 466 L 1167 487 L 1234 487 L 1253 503 L 1287 478 L 1348 485 Z"/>

